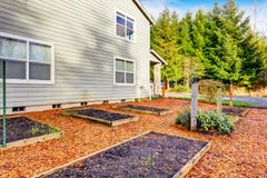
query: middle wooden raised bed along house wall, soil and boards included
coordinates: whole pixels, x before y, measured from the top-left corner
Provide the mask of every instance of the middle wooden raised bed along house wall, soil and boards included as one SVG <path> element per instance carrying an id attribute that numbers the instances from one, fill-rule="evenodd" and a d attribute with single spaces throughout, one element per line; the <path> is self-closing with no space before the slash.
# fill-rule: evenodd
<path id="1" fill-rule="evenodd" d="M 115 113 L 98 109 L 82 109 L 82 110 L 68 110 L 62 112 L 63 116 L 73 116 L 91 121 L 106 123 L 108 126 L 119 126 L 131 121 L 138 121 L 137 116 Z"/>

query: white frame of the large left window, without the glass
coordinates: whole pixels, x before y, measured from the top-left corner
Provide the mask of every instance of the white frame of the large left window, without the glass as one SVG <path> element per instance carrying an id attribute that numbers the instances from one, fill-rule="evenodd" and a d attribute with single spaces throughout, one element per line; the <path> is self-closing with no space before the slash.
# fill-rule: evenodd
<path id="1" fill-rule="evenodd" d="M 52 42 L 46 42 L 40 40 L 34 40 L 21 36 L 14 36 L 6 32 L 0 32 L 1 37 L 18 39 L 27 42 L 27 59 L 19 59 L 19 61 L 26 62 L 26 79 L 7 79 L 8 83 L 55 83 L 55 44 Z M 50 65 L 50 80 L 36 80 L 36 79 L 29 79 L 29 70 L 30 70 L 30 62 L 34 62 L 30 60 L 30 42 L 39 43 L 39 44 L 46 44 L 51 47 L 51 61 L 50 62 L 37 62 L 37 63 L 49 63 Z M 11 59 L 1 57 L 0 59 L 9 60 L 9 61 L 18 61 L 18 59 Z M 0 82 L 2 82 L 2 79 L 0 79 Z"/>

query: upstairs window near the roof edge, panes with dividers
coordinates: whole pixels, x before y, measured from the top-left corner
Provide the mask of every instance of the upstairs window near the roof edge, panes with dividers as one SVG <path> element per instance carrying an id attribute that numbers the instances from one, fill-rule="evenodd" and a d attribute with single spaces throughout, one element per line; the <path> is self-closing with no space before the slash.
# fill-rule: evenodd
<path id="1" fill-rule="evenodd" d="M 116 34 L 129 41 L 135 39 L 135 20 L 120 12 L 116 13 Z"/>

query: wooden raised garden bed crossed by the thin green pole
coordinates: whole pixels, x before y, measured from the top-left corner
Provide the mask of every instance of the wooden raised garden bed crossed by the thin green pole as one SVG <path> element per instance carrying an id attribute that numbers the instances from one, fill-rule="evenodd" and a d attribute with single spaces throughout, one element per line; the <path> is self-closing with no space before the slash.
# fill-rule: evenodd
<path id="1" fill-rule="evenodd" d="M 2 119 L 0 120 L 2 122 Z M 2 125 L 0 125 L 0 141 L 2 142 Z M 43 140 L 59 138 L 63 131 L 31 120 L 27 117 L 7 119 L 7 148 L 20 147 Z M 1 149 L 7 149 L 2 148 Z"/>

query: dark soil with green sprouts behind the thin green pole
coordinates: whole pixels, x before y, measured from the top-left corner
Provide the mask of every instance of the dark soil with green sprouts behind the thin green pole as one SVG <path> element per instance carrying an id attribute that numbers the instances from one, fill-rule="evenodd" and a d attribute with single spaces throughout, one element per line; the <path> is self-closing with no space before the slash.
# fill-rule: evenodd
<path id="1" fill-rule="evenodd" d="M 2 142 L 2 119 L 0 120 L 0 142 Z M 7 119 L 7 142 L 13 142 L 27 138 L 38 137 L 57 131 L 48 125 L 30 120 L 26 117 L 16 117 Z"/>

